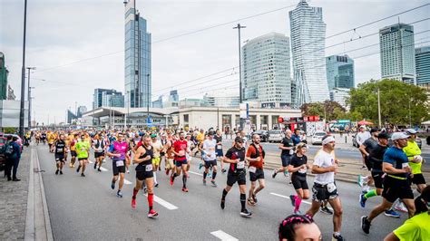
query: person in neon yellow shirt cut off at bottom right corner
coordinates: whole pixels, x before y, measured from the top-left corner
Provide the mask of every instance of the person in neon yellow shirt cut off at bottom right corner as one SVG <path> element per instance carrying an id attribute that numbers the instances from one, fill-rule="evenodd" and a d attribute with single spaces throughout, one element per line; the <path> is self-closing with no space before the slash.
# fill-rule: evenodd
<path id="1" fill-rule="evenodd" d="M 415 215 L 386 236 L 384 240 L 430 240 L 430 186 L 415 198 Z"/>

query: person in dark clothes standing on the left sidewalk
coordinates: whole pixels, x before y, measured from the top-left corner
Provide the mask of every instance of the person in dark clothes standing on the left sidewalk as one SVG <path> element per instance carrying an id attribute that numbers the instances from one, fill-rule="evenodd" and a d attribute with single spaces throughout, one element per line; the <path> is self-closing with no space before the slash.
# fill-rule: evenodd
<path id="1" fill-rule="evenodd" d="M 16 178 L 16 172 L 18 170 L 19 159 L 21 159 L 21 148 L 16 143 L 17 137 L 7 136 L 7 144 L 5 146 L 5 159 L 6 169 L 5 174 L 7 180 L 20 181 L 21 179 Z M 12 170 L 13 169 L 13 170 Z M 12 171 L 12 177 L 11 177 Z"/>

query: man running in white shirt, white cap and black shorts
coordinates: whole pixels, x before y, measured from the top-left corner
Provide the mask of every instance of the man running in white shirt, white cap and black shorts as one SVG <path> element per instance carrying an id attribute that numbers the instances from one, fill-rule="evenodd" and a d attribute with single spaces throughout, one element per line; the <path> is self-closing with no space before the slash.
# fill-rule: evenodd
<path id="1" fill-rule="evenodd" d="M 319 207 L 327 201 L 333 207 L 333 240 L 344 240 L 340 236 L 340 227 L 342 225 L 342 205 L 338 197 L 335 183 L 335 174 L 337 173 L 337 161 L 331 155 L 335 149 L 335 138 L 326 136 L 322 140 L 323 148 L 318 151 L 312 166 L 312 173 L 316 174 L 314 187 L 312 188 L 312 206 L 307 214 L 314 217 Z"/>

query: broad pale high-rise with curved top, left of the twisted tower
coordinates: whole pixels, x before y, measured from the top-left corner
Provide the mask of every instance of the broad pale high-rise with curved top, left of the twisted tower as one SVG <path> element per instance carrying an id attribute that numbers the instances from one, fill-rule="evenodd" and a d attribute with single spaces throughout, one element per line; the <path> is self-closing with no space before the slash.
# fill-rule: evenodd
<path id="1" fill-rule="evenodd" d="M 265 108 L 291 105 L 289 38 L 269 33 L 242 46 L 243 101 Z"/>

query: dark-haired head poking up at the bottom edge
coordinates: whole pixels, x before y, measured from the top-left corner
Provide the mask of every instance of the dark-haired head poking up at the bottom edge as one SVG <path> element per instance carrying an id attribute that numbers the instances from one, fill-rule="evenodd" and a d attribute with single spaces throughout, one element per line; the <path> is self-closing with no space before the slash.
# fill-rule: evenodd
<path id="1" fill-rule="evenodd" d="M 290 215 L 279 225 L 279 240 L 321 240 L 321 231 L 308 215 Z"/>

